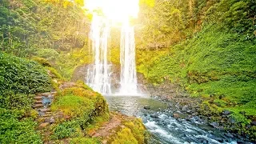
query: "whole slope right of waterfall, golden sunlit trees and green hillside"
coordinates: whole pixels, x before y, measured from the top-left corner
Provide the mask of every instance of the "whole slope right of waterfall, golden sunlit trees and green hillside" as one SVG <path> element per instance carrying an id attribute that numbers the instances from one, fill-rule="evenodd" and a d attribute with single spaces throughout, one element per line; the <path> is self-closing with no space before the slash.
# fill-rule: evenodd
<path id="1" fill-rule="evenodd" d="M 140 35 L 145 42 L 138 38 L 138 71 L 155 85 L 170 80 L 203 98 L 212 110 L 206 115 L 231 110 L 238 126 L 232 129 L 255 138 L 255 127 L 246 126 L 256 117 L 256 3 L 180 2 L 156 1 L 142 15 L 149 23 Z"/>

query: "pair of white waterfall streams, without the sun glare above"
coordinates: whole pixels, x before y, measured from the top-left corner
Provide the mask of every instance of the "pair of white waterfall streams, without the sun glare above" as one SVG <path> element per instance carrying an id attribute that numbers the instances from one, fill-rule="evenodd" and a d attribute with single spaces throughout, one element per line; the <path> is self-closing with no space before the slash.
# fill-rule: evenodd
<path id="1" fill-rule="evenodd" d="M 111 64 L 107 59 L 110 54 L 108 49 L 109 23 L 106 18 L 94 14 L 90 30 L 94 64 L 87 69 L 86 84 L 101 94 L 112 94 Z M 120 49 L 121 74 L 118 94 L 137 95 L 134 27 L 130 26 L 128 21 L 122 24 Z"/>

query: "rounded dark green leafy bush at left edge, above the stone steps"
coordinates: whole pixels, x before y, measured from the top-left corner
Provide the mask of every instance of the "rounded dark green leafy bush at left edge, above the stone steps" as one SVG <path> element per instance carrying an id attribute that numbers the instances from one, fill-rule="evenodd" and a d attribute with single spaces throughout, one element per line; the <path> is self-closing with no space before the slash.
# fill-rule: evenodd
<path id="1" fill-rule="evenodd" d="M 47 90 L 50 90 L 50 78 L 42 66 L 0 53 L 0 95 L 36 94 Z"/>

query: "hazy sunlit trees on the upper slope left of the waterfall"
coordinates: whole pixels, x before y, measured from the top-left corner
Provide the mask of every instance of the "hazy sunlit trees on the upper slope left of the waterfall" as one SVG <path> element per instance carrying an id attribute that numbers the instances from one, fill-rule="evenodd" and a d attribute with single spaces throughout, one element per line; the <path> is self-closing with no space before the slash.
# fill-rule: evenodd
<path id="1" fill-rule="evenodd" d="M 64 3 L 61 3 L 64 2 Z M 83 1 L 0 2 L 0 49 L 20 57 L 53 57 L 56 50 L 85 45 L 88 27 Z M 65 5 L 65 6 L 63 6 Z"/>

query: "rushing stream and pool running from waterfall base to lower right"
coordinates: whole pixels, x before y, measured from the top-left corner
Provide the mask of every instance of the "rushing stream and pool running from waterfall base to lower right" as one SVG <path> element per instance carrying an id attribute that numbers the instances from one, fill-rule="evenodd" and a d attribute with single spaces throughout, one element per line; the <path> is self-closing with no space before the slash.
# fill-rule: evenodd
<path id="1" fill-rule="evenodd" d="M 153 134 L 152 144 L 182 144 L 182 143 L 210 143 L 236 144 L 245 142 L 239 138 L 230 138 L 224 131 L 206 125 L 200 118 L 194 116 L 190 122 L 176 119 L 172 110 L 165 102 L 146 97 L 106 96 L 110 110 L 117 110 L 122 114 L 142 118 L 147 130 Z M 150 106 L 145 110 L 144 106 Z"/>

